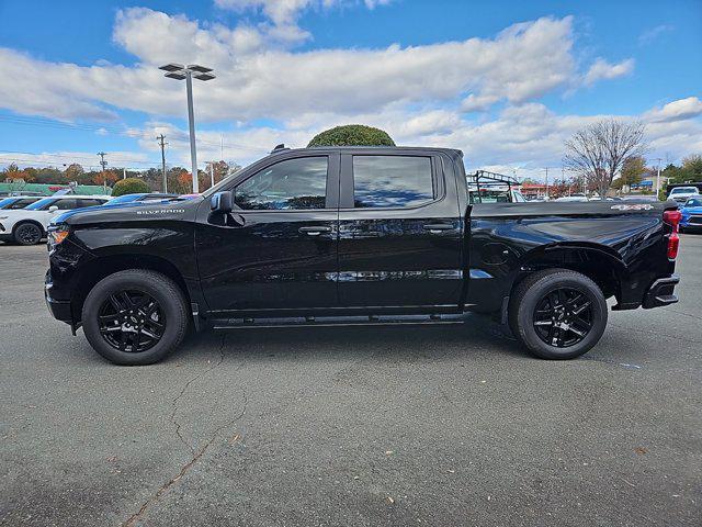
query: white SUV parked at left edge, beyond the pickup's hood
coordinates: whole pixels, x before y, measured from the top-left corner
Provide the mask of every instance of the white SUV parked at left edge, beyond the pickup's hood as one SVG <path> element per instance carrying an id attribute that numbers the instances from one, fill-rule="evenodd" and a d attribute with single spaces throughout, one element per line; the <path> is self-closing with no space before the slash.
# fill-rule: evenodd
<path id="1" fill-rule="evenodd" d="M 61 212 L 102 205 L 109 195 L 52 195 L 25 209 L 0 211 L 0 240 L 35 245 L 46 236 L 52 217 Z"/>

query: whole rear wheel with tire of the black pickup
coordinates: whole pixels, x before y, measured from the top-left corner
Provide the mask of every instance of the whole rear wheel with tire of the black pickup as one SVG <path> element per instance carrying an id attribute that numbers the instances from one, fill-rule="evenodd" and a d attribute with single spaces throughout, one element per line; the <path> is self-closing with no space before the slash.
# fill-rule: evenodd
<path id="1" fill-rule="evenodd" d="M 517 340 L 542 359 L 574 359 L 589 351 L 607 327 L 607 301 L 585 274 L 548 269 L 513 290 L 509 324 Z"/>

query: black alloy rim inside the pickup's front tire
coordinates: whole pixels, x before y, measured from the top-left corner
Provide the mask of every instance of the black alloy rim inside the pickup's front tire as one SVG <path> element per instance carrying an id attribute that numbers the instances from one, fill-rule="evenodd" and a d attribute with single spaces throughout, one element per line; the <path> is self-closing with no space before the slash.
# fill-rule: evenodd
<path id="1" fill-rule="evenodd" d="M 166 329 L 163 310 L 145 291 L 122 290 L 110 294 L 100 306 L 98 316 L 102 338 L 124 352 L 152 348 Z"/>

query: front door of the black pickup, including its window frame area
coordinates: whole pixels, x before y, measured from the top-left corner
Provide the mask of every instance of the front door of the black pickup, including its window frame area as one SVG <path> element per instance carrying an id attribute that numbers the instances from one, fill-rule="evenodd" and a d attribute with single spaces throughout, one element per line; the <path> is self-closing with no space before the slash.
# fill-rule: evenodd
<path id="1" fill-rule="evenodd" d="M 303 192 L 303 183 L 287 184 L 282 179 L 315 177 L 317 168 L 292 162 L 292 176 L 281 176 L 285 170 L 280 167 L 278 172 L 271 170 L 297 157 L 272 161 L 271 167 L 238 178 L 234 183 L 237 189 L 228 190 L 235 191 L 239 205 L 226 218 L 213 217 L 208 203 L 199 209 L 197 262 L 212 311 L 337 305 L 339 157 L 314 157 L 328 161 L 326 199 L 321 202 L 315 195 L 319 186 L 307 184 L 310 190 Z"/>

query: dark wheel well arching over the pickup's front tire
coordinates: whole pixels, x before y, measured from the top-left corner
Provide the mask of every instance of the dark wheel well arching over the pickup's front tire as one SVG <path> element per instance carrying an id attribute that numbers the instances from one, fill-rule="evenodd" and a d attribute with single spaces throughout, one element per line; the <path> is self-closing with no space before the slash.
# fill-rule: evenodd
<path id="1" fill-rule="evenodd" d="M 178 284 L 186 302 L 190 303 L 190 294 L 188 293 L 185 281 L 178 268 L 170 261 L 150 255 L 118 255 L 97 258 L 84 266 L 84 269 L 76 280 L 76 289 L 71 298 L 72 312 L 80 316 L 88 293 L 100 280 L 127 269 L 160 272 Z"/>

